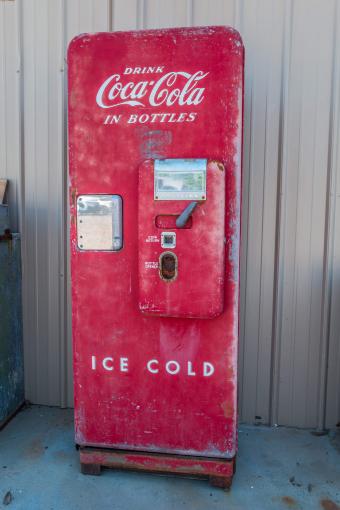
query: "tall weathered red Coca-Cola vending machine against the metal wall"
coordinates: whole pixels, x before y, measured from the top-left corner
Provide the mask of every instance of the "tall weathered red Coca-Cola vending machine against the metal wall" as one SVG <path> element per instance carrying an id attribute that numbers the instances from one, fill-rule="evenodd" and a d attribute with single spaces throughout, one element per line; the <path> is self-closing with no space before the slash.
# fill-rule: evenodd
<path id="1" fill-rule="evenodd" d="M 226 27 L 70 44 L 75 434 L 102 466 L 230 486 L 244 50 Z"/>

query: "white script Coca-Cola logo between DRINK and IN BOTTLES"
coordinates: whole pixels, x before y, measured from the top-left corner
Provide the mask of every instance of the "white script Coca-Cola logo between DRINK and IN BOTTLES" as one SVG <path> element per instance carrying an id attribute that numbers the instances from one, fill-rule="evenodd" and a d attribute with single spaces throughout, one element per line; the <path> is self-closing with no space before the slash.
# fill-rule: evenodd
<path id="1" fill-rule="evenodd" d="M 124 80 L 124 75 L 112 74 L 99 87 L 96 102 L 101 108 L 120 105 L 197 106 L 204 99 L 202 80 L 208 74 L 203 71 L 170 71 L 156 80 L 138 80 L 133 76 L 133 79 L 129 77 L 129 81 Z"/>

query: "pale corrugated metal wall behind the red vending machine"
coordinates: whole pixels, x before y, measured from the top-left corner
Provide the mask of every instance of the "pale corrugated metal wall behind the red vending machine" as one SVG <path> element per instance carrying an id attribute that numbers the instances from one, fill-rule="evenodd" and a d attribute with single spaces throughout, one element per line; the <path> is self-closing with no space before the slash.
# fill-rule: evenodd
<path id="1" fill-rule="evenodd" d="M 27 398 L 72 405 L 65 54 L 81 32 L 227 24 L 246 47 L 240 414 L 340 420 L 337 0 L 3 0 L 0 174 L 23 233 Z"/>

